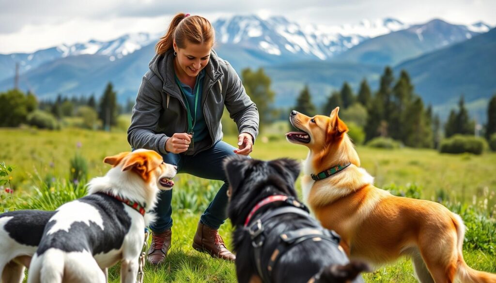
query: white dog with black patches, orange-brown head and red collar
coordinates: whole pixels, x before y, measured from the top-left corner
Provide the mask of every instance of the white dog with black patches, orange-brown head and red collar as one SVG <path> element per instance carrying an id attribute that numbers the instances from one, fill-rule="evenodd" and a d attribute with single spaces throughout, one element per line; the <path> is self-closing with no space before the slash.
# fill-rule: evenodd
<path id="1" fill-rule="evenodd" d="M 89 183 L 89 194 L 57 209 L 33 256 L 28 283 L 104 283 L 102 270 L 121 262 L 121 282 L 135 282 L 148 213 L 177 169 L 150 150 L 104 160 L 113 166 Z"/>

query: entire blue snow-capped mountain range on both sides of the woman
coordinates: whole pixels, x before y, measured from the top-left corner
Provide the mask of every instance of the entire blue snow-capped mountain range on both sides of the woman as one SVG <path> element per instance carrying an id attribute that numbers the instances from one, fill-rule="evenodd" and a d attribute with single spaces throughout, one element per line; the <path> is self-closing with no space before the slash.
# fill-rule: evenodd
<path id="1" fill-rule="evenodd" d="M 219 19 L 213 25 L 217 53 L 238 72 L 264 67 L 276 86 L 276 101 L 288 101 L 285 95 L 296 95 L 295 85 L 304 83 L 318 86 L 318 93 L 326 95 L 343 81 L 356 84 L 368 74 L 379 76 L 385 64 L 445 49 L 490 29 L 481 22 L 407 25 L 391 18 L 356 25 L 301 25 L 285 17 L 257 16 Z M 136 95 L 160 36 L 130 34 L 108 42 L 91 40 L 32 54 L 0 55 L 0 91 L 12 88 L 19 63 L 19 88 L 40 98 L 99 93 L 112 81 L 124 101 Z"/>

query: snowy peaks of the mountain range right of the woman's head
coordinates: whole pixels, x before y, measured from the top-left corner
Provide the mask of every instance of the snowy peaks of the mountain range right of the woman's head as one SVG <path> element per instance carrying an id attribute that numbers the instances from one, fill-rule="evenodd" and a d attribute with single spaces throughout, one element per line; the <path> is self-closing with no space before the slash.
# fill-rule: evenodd
<path id="1" fill-rule="evenodd" d="M 261 19 L 258 16 L 234 16 L 213 23 L 219 45 L 242 44 L 268 54 L 298 55 L 321 60 L 339 54 L 371 37 L 408 28 L 386 18 L 364 20 L 357 25 L 300 25 L 285 17 Z"/>

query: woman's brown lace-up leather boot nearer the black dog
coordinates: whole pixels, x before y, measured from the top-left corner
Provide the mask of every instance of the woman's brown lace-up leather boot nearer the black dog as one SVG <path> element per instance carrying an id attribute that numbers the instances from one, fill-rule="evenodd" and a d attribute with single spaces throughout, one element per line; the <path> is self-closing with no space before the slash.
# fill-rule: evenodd
<path id="1" fill-rule="evenodd" d="M 219 235 L 219 230 L 212 229 L 199 222 L 193 238 L 193 248 L 197 251 L 208 253 L 213 258 L 230 261 L 236 259 L 236 256 L 226 248 L 224 240 Z"/>

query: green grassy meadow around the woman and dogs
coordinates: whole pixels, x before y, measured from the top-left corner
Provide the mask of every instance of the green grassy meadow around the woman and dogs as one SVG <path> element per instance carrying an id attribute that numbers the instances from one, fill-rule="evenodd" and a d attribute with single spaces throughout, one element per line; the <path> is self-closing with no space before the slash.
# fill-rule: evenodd
<path id="1" fill-rule="evenodd" d="M 236 144 L 235 136 L 224 139 Z M 13 194 L 2 189 L 0 211 L 4 209 L 55 209 L 84 195 L 84 184 L 69 180 L 69 160 L 79 155 L 87 161 L 87 177 L 103 175 L 106 156 L 129 151 L 126 133 L 64 129 L 0 129 L 0 162 L 12 166 L 9 172 Z M 375 185 L 397 195 L 439 201 L 460 214 L 467 225 L 465 260 L 478 270 L 496 273 L 496 154 L 445 155 L 434 150 L 402 148 L 380 150 L 357 147 L 362 166 L 375 177 Z M 283 135 L 261 136 L 252 158 L 305 159 L 307 149 L 288 143 Z M 173 197 L 173 241 L 166 263 L 146 266 L 145 282 L 235 282 L 234 264 L 211 259 L 191 248 L 192 237 L 202 210 L 213 198 L 219 181 L 179 174 Z M 300 183 L 297 182 L 300 189 Z M 230 246 L 229 221 L 221 234 Z M 110 282 L 120 282 L 119 266 L 111 269 Z M 383 267 L 365 275 L 366 282 L 416 282 L 409 260 Z"/>

